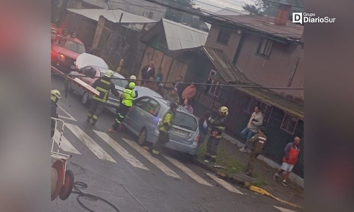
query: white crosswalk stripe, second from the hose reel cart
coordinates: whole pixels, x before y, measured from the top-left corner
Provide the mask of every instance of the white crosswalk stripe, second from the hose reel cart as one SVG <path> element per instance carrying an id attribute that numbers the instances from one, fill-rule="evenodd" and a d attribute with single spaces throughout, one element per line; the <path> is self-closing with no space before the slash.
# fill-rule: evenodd
<path id="1" fill-rule="evenodd" d="M 93 139 L 78 126 L 67 123 L 65 126 L 68 127 L 68 129 L 74 133 L 75 136 L 78 137 L 80 141 L 82 141 L 82 143 L 84 143 L 99 159 L 116 162 L 106 151 L 102 149 L 101 146 L 93 141 Z"/>

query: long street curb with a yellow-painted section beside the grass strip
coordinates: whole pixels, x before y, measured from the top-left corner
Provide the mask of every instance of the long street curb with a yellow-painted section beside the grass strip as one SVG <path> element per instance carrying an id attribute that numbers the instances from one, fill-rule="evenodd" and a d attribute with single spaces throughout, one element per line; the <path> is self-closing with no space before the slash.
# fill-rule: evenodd
<path id="1" fill-rule="evenodd" d="M 273 196 L 272 194 L 270 194 L 268 191 L 266 191 L 264 189 L 256 187 L 256 186 L 252 185 L 251 183 L 249 183 L 249 182 L 247 182 L 247 181 L 245 181 L 245 180 L 243 180 L 241 178 L 238 178 L 238 177 L 235 177 L 235 176 L 233 176 L 231 174 L 223 172 L 223 171 L 221 171 L 221 170 L 219 170 L 217 168 L 214 168 L 214 167 L 212 167 L 212 166 L 210 166 L 210 165 L 208 165 L 208 164 L 206 164 L 206 163 L 204 163 L 202 161 L 194 159 L 193 160 L 193 164 L 195 164 L 195 165 L 197 165 L 197 166 L 199 166 L 201 168 L 204 168 L 205 170 L 208 170 L 208 171 L 216 174 L 220 178 L 227 179 L 227 180 L 231 181 L 232 183 L 237 184 L 237 185 L 239 185 L 239 186 L 241 186 L 243 188 L 246 188 L 246 189 L 248 189 L 250 191 L 253 191 L 253 192 L 257 193 L 257 194 L 262 194 L 264 196 L 268 196 L 268 197 L 270 197 L 270 198 L 272 198 L 274 200 L 277 200 L 279 202 L 282 202 L 284 204 L 293 206 L 295 208 L 303 209 L 303 207 L 301 207 L 301 206 L 298 206 L 298 205 L 292 204 L 290 202 L 287 202 L 285 200 L 279 199 L 278 197 Z"/>

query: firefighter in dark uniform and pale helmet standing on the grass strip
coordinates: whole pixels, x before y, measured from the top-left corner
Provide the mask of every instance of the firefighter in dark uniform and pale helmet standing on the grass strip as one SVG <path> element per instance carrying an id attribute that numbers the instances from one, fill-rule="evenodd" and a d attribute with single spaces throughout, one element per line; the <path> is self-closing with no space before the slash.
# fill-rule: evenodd
<path id="1" fill-rule="evenodd" d="M 225 106 L 219 108 L 219 115 L 216 118 L 209 117 L 209 123 L 211 125 L 211 134 L 206 146 L 205 160 L 216 162 L 217 146 L 222 137 L 222 133 L 226 128 L 227 117 L 229 115 L 229 109 Z"/>

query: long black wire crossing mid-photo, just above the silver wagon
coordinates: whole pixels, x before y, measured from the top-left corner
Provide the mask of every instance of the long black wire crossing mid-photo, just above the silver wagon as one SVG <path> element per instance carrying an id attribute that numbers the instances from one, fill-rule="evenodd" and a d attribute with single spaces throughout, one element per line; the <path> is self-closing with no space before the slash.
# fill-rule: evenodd
<path id="1" fill-rule="evenodd" d="M 52 75 L 59 75 L 59 76 L 69 76 L 73 77 L 84 77 L 84 78 L 102 78 L 101 76 L 83 76 L 83 75 L 72 75 L 72 74 L 60 74 L 60 73 L 51 73 Z M 125 80 L 129 81 L 129 79 L 121 79 L 116 77 L 111 77 L 110 79 L 115 80 Z M 142 81 L 142 82 L 158 82 L 158 83 L 171 83 L 175 84 L 176 82 L 171 81 L 155 81 L 155 80 L 134 80 L 134 81 Z M 304 90 L 304 88 L 299 87 L 262 87 L 252 85 L 251 83 L 244 83 L 244 82 L 229 82 L 230 84 L 208 84 L 208 83 L 196 83 L 193 82 L 194 85 L 207 85 L 207 86 L 217 86 L 217 87 L 244 87 L 244 88 L 263 88 L 263 89 L 274 89 L 274 90 Z M 191 82 L 178 82 L 178 84 L 192 84 Z M 251 85 L 244 85 L 244 84 L 251 84 Z"/>

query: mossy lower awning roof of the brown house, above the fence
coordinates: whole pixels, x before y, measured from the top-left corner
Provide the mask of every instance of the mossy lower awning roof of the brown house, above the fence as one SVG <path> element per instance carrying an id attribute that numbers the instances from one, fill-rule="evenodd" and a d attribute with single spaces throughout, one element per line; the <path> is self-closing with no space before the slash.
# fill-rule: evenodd
<path id="1" fill-rule="evenodd" d="M 222 50 L 202 47 L 206 56 L 210 59 L 212 64 L 221 74 L 225 82 L 234 81 L 240 83 L 250 83 L 247 86 L 258 86 L 252 83 L 241 70 L 233 63 L 230 63 L 227 56 Z M 235 87 L 235 89 L 242 91 L 264 103 L 274 105 L 275 107 L 284 110 L 297 118 L 304 119 L 304 107 L 301 104 L 292 102 L 280 94 L 266 88 L 247 88 Z"/>

